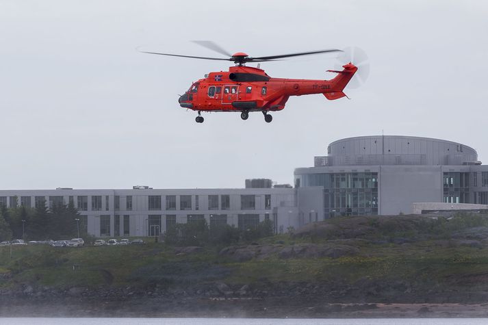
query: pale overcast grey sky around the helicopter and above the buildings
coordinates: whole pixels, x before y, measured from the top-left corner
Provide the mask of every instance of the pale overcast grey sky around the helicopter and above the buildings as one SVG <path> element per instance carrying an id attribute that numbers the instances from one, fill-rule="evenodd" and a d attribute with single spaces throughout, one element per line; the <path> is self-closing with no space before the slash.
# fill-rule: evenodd
<path id="1" fill-rule="evenodd" d="M 0 0 L 0 188 L 243 187 L 292 183 L 340 138 L 415 135 L 461 142 L 488 163 L 486 1 Z M 177 103 L 226 62 L 138 53 L 251 56 L 357 46 L 368 82 L 292 97 L 260 113 Z M 333 77 L 330 55 L 261 64 L 272 77 Z"/>

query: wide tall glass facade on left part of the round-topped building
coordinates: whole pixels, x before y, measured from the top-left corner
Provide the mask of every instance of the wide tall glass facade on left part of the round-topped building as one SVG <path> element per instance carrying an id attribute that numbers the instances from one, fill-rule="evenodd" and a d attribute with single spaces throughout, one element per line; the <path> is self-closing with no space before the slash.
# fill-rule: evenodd
<path id="1" fill-rule="evenodd" d="M 377 172 L 302 174 L 296 184 L 324 187 L 324 218 L 378 214 Z"/>

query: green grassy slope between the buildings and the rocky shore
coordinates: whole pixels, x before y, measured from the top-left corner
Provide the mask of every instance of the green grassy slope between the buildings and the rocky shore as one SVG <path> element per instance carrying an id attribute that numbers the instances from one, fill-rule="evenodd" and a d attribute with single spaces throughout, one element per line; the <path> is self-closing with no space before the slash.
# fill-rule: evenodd
<path id="1" fill-rule="evenodd" d="M 479 279 L 488 279 L 488 246 L 456 244 L 454 231 L 486 226 L 484 218 L 469 220 L 429 221 L 384 220 L 381 217 L 343 218 L 329 224 L 341 229 L 336 234 L 277 235 L 259 240 L 259 244 L 344 242 L 359 248 L 359 254 L 337 259 L 252 259 L 237 263 L 218 255 L 218 247 L 205 247 L 203 252 L 175 255 L 166 244 L 143 246 L 103 246 L 84 248 L 52 248 L 49 246 L 0 247 L 0 287 L 28 283 L 47 287 L 99 287 L 101 285 L 164 287 L 193 285 L 212 281 L 229 284 L 279 282 L 355 283 L 370 281 L 407 281 L 428 285 L 454 285 L 464 289 L 479 286 Z M 367 226 L 357 235 L 358 226 Z M 354 236 L 348 237 L 348 231 Z M 395 244 L 391 239 L 404 237 L 407 243 Z M 352 239 L 351 239 L 352 238 Z M 357 240 L 357 238 L 365 240 Z M 447 240 L 445 239 L 447 238 Z M 382 239 L 378 242 L 378 239 Z M 384 239 L 384 240 L 383 240 Z M 462 239 L 462 238 L 461 238 Z M 79 268 L 73 270 L 73 265 Z M 462 289 L 461 288 L 461 289 Z"/>

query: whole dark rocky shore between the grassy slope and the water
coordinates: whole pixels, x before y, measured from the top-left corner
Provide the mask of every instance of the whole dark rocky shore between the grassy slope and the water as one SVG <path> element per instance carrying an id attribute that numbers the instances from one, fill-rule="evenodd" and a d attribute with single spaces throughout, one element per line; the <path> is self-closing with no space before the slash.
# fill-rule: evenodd
<path id="1" fill-rule="evenodd" d="M 1 317 L 488 317 L 488 293 L 402 283 L 266 283 L 0 291 Z M 421 296 L 424 296 L 422 298 Z"/>

